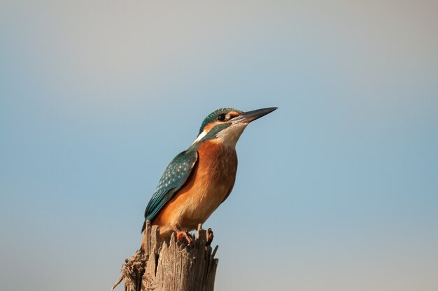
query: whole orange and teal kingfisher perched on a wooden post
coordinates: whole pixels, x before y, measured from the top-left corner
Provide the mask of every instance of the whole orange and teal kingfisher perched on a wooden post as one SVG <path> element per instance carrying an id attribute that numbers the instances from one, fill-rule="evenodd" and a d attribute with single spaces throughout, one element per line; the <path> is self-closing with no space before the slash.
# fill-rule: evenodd
<path id="1" fill-rule="evenodd" d="M 146 220 L 160 227 L 160 240 L 176 232 L 177 239 L 209 218 L 231 193 L 237 171 L 236 143 L 246 126 L 277 107 L 243 112 L 234 108 L 213 111 L 202 122 L 197 139 L 170 162 L 145 211 Z M 212 239 L 212 238 L 211 238 Z"/>

